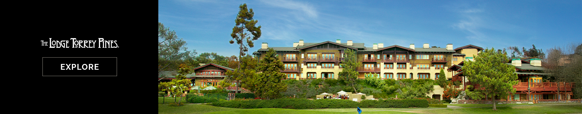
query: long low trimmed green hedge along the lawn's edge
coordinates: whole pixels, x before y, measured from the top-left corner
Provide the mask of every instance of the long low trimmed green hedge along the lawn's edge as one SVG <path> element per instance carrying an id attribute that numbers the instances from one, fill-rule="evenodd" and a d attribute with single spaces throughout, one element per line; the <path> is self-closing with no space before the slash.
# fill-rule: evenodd
<path id="1" fill-rule="evenodd" d="M 428 107 L 428 101 L 422 99 L 403 100 L 362 100 L 361 102 L 350 100 L 307 100 L 297 98 L 279 98 L 275 100 L 241 100 L 220 101 L 211 105 L 228 108 L 287 108 L 287 109 L 321 109 L 321 108 L 409 108 Z"/>

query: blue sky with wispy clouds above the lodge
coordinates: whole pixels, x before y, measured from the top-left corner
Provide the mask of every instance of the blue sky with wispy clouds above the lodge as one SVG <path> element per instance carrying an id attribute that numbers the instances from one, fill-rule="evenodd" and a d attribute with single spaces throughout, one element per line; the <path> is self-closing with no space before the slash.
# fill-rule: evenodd
<path id="1" fill-rule="evenodd" d="M 582 1 L 158 1 L 158 22 L 176 31 L 188 50 L 238 55 L 228 41 L 239 5 L 261 25 L 254 41 L 271 47 L 293 42 L 352 40 L 372 47 L 410 43 L 546 49 L 582 41 Z"/>

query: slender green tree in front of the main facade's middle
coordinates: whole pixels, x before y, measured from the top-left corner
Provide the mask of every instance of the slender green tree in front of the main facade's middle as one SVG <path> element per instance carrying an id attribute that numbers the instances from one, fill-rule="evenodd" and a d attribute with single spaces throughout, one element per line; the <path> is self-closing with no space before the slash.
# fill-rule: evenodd
<path id="1" fill-rule="evenodd" d="M 338 79 L 345 82 L 348 86 L 352 86 L 354 93 L 357 93 L 356 80 L 358 79 L 360 73 L 356 71 L 356 68 L 360 62 L 357 62 L 356 51 L 347 49 L 343 55 L 345 56 L 345 59 L 342 61 L 342 64 L 340 64 L 342 65 L 343 70 L 342 72 L 339 72 Z"/>

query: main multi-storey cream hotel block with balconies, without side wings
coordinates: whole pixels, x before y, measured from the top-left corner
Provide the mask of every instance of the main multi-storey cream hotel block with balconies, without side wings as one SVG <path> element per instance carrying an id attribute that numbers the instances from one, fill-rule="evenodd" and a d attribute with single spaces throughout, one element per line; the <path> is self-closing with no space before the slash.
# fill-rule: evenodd
<path id="1" fill-rule="evenodd" d="M 381 79 L 438 79 L 441 69 L 446 71 L 482 50 L 473 45 L 453 49 L 450 43 L 443 47 L 430 47 L 428 43 L 407 47 L 374 43 L 372 47 L 365 47 L 364 43 L 342 42 L 340 39 L 320 43 L 305 43 L 301 39 L 294 42 L 293 47 L 269 47 L 267 42 L 263 42 L 261 49 L 253 54 L 261 59 L 268 48 L 275 49 L 285 64 L 282 72 L 288 75 L 287 79 L 338 79 L 338 73 L 342 71 L 340 63 L 347 49 L 357 50 L 357 61 L 361 62 L 357 68 L 360 79 L 364 79 L 364 73 L 374 73 Z M 451 79 L 453 74 L 449 73 L 446 76 Z"/>

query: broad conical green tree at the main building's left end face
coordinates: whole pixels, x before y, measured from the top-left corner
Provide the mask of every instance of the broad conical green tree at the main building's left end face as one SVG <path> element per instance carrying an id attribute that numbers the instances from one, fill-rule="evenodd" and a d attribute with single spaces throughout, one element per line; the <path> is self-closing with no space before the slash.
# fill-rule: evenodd
<path id="1" fill-rule="evenodd" d="M 281 92 L 287 89 L 287 84 L 281 82 L 287 75 L 281 72 L 285 65 L 275 56 L 276 51 L 269 48 L 269 51 L 265 54 L 257 67 L 258 73 L 254 77 L 254 87 L 250 87 L 251 91 L 255 92 L 255 95 L 261 98 L 278 98 L 281 97 Z"/>

